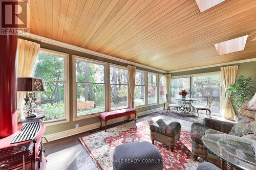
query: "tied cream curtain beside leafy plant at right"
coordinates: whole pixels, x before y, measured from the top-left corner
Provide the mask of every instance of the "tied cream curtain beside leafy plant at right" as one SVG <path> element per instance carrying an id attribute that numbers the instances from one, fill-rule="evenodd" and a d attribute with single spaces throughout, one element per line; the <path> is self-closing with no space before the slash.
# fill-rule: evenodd
<path id="1" fill-rule="evenodd" d="M 236 81 L 237 72 L 237 65 L 221 67 L 221 77 L 226 94 L 225 101 L 222 105 L 221 115 L 222 117 L 230 120 L 233 120 L 234 115 L 236 114 L 234 113 L 234 109 L 230 100 L 230 94 L 228 93 L 227 88 L 234 84 L 234 82 Z"/>

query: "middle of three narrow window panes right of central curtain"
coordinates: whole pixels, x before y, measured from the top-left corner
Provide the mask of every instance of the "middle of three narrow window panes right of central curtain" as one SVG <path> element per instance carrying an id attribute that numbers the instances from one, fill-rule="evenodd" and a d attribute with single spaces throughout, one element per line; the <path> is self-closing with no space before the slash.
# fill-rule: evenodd
<path id="1" fill-rule="evenodd" d="M 157 103 L 157 74 L 147 74 L 147 104 Z"/>

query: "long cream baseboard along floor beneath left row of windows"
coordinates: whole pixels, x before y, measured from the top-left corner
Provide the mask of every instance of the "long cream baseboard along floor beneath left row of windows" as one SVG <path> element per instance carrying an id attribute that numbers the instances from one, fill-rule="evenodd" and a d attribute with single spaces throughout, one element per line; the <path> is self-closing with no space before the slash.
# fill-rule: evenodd
<path id="1" fill-rule="evenodd" d="M 163 109 L 163 107 L 158 107 L 158 108 L 155 108 L 155 109 L 146 110 L 146 111 L 143 111 L 143 112 L 139 112 L 137 114 L 137 116 L 150 114 L 150 113 L 153 113 L 153 112 L 156 112 L 156 111 L 160 111 L 162 109 Z M 129 119 L 129 116 L 123 116 L 123 117 L 118 117 L 118 118 L 115 118 L 115 119 L 111 119 L 107 122 L 107 125 L 122 122 L 122 121 L 127 120 L 127 119 Z M 82 126 L 82 127 L 77 128 L 77 129 L 69 129 L 69 130 L 66 130 L 66 131 L 52 133 L 52 134 L 49 134 L 49 135 L 45 135 L 45 137 L 49 141 L 53 141 L 53 140 L 65 138 L 65 137 L 68 137 L 68 136 L 72 136 L 72 135 L 75 135 L 75 134 L 79 134 L 79 133 L 82 133 L 82 132 L 87 132 L 87 131 L 90 131 L 90 130 L 94 130 L 94 129 L 99 128 L 99 126 L 100 126 L 100 122 L 95 123 L 95 124 L 91 124 L 91 125 Z M 102 122 L 102 126 L 104 126 L 104 122 Z M 42 142 L 45 143 L 46 142 L 45 139 L 43 139 Z"/>

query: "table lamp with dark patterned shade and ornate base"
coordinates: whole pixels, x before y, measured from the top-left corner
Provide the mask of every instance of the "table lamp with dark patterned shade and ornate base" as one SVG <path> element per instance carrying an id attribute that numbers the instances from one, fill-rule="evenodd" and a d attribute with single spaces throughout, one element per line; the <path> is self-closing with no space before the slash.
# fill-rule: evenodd
<path id="1" fill-rule="evenodd" d="M 36 117 L 34 109 L 37 105 L 35 91 L 44 91 L 42 80 L 32 77 L 19 77 L 17 80 L 17 91 L 26 92 L 25 105 L 22 110 L 25 118 Z"/>

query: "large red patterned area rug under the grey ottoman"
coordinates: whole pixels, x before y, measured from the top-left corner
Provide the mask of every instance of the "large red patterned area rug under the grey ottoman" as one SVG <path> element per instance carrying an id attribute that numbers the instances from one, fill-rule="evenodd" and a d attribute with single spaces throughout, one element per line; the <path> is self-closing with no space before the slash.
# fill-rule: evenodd
<path id="1" fill-rule="evenodd" d="M 138 119 L 136 124 L 132 121 L 110 128 L 107 132 L 101 131 L 80 137 L 80 140 L 99 169 L 113 169 L 112 157 L 115 147 L 132 141 L 151 142 L 149 125 L 153 123 L 153 118 L 146 116 Z M 181 130 L 180 141 L 177 142 L 174 152 L 170 152 L 170 148 L 166 145 L 155 141 L 155 146 L 163 158 L 163 169 L 194 170 L 198 166 L 198 162 L 190 159 L 191 141 L 189 128 L 182 127 Z"/>

